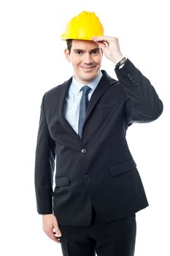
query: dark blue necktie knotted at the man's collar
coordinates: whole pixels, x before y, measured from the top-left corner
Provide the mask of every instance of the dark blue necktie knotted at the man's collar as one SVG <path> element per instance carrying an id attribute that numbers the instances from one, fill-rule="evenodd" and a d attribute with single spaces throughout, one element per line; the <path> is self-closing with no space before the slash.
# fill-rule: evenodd
<path id="1" fill-rule="evenodd" d="M 82 127 L 85 121 L 85 114 L 88 107 L 88 93 L 90 91 L 90 87 L 82 86 L 82 98 L 80 100 L 80 112 L 79 112 L 79 129 L 78 134 L 80 138 L 82 138 Z"/>

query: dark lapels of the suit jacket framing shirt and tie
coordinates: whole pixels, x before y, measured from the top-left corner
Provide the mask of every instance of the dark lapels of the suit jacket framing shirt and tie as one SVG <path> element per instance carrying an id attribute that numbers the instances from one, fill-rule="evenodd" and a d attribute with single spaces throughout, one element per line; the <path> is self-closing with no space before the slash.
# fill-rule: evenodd
<path id="1" fill-rule="evenodd" d="M 90 98 L 90 102 L 88 103 L 87 113 L 85 117 L 85 122 L 88 120 L 90 113 L 92 112 L 93 108 L 95 107 L 96 103 L 98 102 L 98 99 L 104 94 L 104 91 L 109 87 L 112 86 L 112 84 L 117 83 L 117 80 L 114 80 L 113 78 L 110 78 L 109 75 L 107 75 L 107 72 L 104 70 L 101 70 L 103 73 L 103 76 L 98 83 L 98 86 L 96 87 L 95 91 L 93 91 L 93 94 Z M 66 101 L 66 96 L 69 91 L 69 87 L 72 83 L 72 78 L 67 80 L 65 83 L 63 83 L 61 86 L 59 86 L 58 91 L 58 116 L 59 121 L 61 122 L 62 126 L 72 135 L 74 138 L 81 140 L 79 135 L 77 135 L 77 132 L 74 131 L 72 126 L 69 124 L 69 122 L 66 120 L 66 118 L 63 116 L 63 110 L 64 105 Z M 84 123 L 85 124 L 85 123 Z"/>

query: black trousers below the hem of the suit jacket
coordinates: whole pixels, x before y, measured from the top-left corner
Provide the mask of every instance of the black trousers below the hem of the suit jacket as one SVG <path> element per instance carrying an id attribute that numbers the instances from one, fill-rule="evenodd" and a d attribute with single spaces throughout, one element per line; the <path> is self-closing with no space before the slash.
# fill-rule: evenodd
<path id="1" fill-rule="evenodd" d="M 59 227 L 63 256 L 134 256 L 136 214 L 104 224 L 93 209 L 88 227 Z"/>

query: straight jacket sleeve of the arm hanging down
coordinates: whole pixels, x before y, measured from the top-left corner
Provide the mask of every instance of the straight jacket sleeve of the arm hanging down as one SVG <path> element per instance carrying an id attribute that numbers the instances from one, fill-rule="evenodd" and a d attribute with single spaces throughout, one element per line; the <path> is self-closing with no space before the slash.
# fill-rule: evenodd
<path id="1" fill-rule="evenodd" d="M 44 108 L 45 95 L 42 99 L 39 119 L 39 131 L 36 141 L 35 157 L 35 192 L 39 214 L 53 213 L 53 173 L 55 167 L 55 141 L 50 137 Z"/>

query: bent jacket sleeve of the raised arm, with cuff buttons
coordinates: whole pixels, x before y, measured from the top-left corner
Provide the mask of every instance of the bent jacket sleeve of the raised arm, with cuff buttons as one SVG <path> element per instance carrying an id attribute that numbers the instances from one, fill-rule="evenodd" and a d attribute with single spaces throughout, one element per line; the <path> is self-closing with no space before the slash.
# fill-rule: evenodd
<path id="1" fill-rule="evenodd" d="M 142 75 L 127 59 L 120 69 L 115 69 L 118 80 L 125 91 L 125 114 L 128 125 L 154 121 L 163 112 L 163 102 L 159 99 L 150 80 Z"/>

